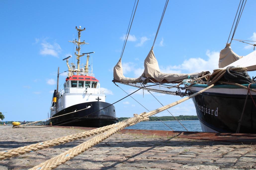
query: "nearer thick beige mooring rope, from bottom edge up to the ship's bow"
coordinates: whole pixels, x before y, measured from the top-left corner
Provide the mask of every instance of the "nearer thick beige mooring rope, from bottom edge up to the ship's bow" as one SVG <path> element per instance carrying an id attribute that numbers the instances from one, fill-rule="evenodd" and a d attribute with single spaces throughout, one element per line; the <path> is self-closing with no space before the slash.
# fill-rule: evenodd
<path id="1" fill-rule="evenodd" d="M 163 107 L 160 107 L 156 110 L 153 110 L 151 112 L 144 112 L 144 113 L 141 113 L 140 115 L 134 115 L 134 117 L 132 118 L 129 118 L 129 119 L 126 119 L 126 120 L 123 120 L 122 122 L 120 122 L 119 124 L 117 124 L 115 127 L 107 130 L 105 133 L 102 133 L 84 143 L 81 143 L 80 145 L 66 151 L 66 152 L 63 152 L 61 153 L 60 155 L 58 156 L 55 156 L 37 166 L 34 166 L 33 168 L 30 168 L 30 170 L 51 170 L 51 169 L 54 169 L 56 168 L 57 166 L 65 163 L 66 161 L 72 159 L 73 157 L 81 154 L 82 152 L 86 151 L 87 149 L 91 148 L 92 146 L 94 146 L 95 144 L 98 144 L 100 143 L 101 141 L 107 139 L 108 137 L 110 137 L 111 135 L 113 135 L 114 133 L 116 133 L 117 131 L 127 127 L 127 126 L 131 126 L 131 125 L 134 125 L 140 121 L 143 121 L 143 120 L 147 120 L 147 118 L 149 116 L 152 116 L 154 114 L 157 114 L 159 112 L 162 112 L 170 107 L 173 107 L 179 103 L 182 103 L 190 98 L 193 98 L 194 96 L 210 89 L 211 87 L 213 87 L 214 84 L 212 84 L 211 86 L 208 86 L 207 88 L 201 90 L 201 91 L 198 91 L 197 93 L 194 93 L 190 96 L 187 96 L 186 98 L 183 98 L 183 99 L 180 99 L 176 102 L 173 102 L 171 104 L 168 104 L 166 106 L 163 106 Z"/>

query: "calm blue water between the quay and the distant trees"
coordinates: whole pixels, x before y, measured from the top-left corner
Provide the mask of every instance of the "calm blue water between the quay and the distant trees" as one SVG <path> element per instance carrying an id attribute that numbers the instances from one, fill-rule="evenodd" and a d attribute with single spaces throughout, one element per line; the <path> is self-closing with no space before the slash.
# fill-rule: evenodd
<path id="1" fill-rule="evenodd" d="M 183 126 L 185 126 L 188 131 L 197 131 L 201 132 L 201 126 L 199 120 L 180 120 L 178 121 L 163 121 L 165 124 L 167 124 L 170 128 L 177 131 L 186 131 L 182 125 L 179 124 L 182 123 Z M 140 130 L 171 130 L 169 127 L 167 127 L 165 124 L 163 124 L 161 121 L 153 121 L 153 122 L 140 122 L 133 126 L 127 127 L 125 129 L 140 129 Z"/>

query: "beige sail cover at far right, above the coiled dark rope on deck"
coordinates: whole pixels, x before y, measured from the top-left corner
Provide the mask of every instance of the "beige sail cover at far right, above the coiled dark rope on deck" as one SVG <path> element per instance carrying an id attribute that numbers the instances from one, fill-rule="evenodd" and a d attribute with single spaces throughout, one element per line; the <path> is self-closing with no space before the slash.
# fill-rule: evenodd
<path id="1" fill-rule="evenodd" d="M 228 46 L 220 51 L 219 68 L 226 67 L 242 57 L 234 53 L 231 47 Z"/>

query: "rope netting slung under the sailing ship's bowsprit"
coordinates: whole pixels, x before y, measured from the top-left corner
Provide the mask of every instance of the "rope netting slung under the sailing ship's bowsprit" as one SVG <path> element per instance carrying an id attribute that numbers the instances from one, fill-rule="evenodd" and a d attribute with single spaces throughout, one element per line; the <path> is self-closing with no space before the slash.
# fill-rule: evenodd
<path id="1" fill-rule="evenodd" d="M 143 88 L 144 90 L 153 91 L 153 92 L 157 92 L 157 93 L 179 95 L 177 93 L 178 89 L 175 86 L 165 86 L 165 85 L 162 85 L 162 84 L 158 84 L 158 85 L 155 85 L 155 86 L 147 87 L 146 85 L 144 85 L 142 83 L 128 83 L 128 84 L 121 83 L 121 82 L 118 82 L 118 83 L 125 84 L 125 85 L 132 86 L 132 87 L 136 87 L 136 88 Z M 182 89 L 179 88 L 179 92 L 185 92 L 185 90 L 182 90 Z"/>

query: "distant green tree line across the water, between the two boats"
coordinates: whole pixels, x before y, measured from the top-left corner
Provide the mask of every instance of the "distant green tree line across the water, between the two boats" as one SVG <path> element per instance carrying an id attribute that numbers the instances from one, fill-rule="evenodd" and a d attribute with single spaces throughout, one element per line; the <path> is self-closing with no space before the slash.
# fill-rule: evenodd
<path id="1" fill-rule="evenodd" d="M 178 120 L 198 120 L 198 117 L 197 116 L 183 116 L 183 115 L 179 115 L 179 116 L 175 116 L 176 119 Z M 118 118 L 119 121 L 123 121 L 125 119 L 128 119 L 130 117 L 120 117 Z M 161 116 L 161 117 L 158 117 L 160 120 L 162 121 L 167 121 L 167 120 L 176 120 L 173 116 Z M 159 121 L 157 117 L 149 117 L 149 121 Z"/>

